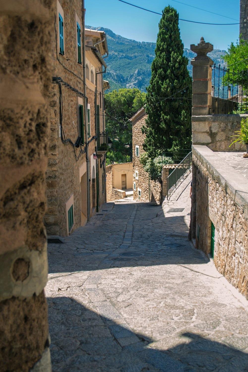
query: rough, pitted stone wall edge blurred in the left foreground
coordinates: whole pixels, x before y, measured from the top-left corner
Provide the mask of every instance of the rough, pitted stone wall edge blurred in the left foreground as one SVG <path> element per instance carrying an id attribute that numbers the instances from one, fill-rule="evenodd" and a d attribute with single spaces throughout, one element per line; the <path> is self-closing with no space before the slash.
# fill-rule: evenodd
<path id="1" fill-rule="evenodd" d="M 49 372 L 46 97 L 54 0 L 0 0 L 0 370 Z"/>

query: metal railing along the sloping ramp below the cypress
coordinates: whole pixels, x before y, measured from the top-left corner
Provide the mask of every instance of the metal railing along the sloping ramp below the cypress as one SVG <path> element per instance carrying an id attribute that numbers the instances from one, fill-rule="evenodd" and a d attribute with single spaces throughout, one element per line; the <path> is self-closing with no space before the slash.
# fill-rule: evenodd
<path id="1" fill-rule="evenodd" d="M 192 151 L 177 165 L 177 167 L 167 177 L 167 200 L 174 192 L 181 180 L 192 166 Z"/>

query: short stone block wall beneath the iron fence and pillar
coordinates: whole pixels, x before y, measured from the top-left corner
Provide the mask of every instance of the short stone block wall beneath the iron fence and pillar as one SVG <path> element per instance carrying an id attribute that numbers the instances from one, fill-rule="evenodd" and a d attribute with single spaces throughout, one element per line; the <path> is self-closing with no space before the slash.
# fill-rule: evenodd
<path id="1" fill-rule="evenodd" d="M 245 146 L 237 142 L 229 147 L 242 118 L 247 115 L 192 116 L 193 145 L 206 145 L 213 151 L 245 151 Z"/>

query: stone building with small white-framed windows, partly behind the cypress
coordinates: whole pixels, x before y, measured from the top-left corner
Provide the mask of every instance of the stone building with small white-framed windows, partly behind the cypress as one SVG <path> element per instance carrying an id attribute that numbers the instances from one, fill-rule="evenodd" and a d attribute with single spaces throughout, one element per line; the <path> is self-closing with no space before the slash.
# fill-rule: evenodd
<path id="1" fill-rule="evenodd" d="M 162 183 L 149 179 L 149 174 L 139 161 L 139 156 L 144 153 L 143 143 L 145 134 L 141 128 L 145 125 L 145 107 L 142 107 L 130 119 L 132 122 L 133 142 L 133 199 L 139 201 L 161 202 Z"/>

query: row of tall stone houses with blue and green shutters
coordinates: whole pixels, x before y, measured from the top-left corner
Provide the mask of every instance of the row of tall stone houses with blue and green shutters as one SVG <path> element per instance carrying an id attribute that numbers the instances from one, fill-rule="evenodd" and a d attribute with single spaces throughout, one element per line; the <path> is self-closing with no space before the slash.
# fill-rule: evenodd
<path id="1" fill-rule="evenodd" d="M 106 149 L 100 145 L 106 144 L 103 56 L 108 49 L 104 32 L 84 29 L 81 0 L 73 6 L 57 0 L 54 27 L 45 225 L 48 234 L 67 236 L 85 225 L 106 200 Z"/>

